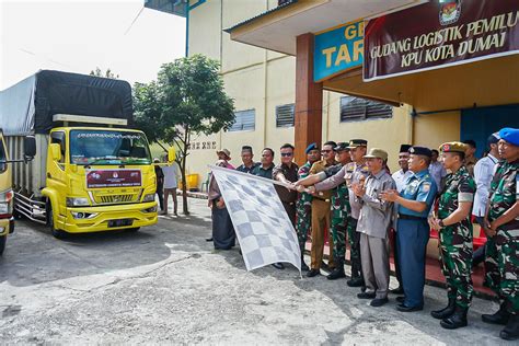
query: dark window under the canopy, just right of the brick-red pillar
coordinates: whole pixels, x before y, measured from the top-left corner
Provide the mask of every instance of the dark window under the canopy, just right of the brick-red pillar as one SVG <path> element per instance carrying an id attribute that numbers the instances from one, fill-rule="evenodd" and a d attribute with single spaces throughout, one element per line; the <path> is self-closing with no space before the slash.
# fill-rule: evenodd
<path id="1" fill-rule="evenodd" d="M 390 118 L 393 107 L 385 103 L 355 96 L 341 97 L 341 122 Z"/>

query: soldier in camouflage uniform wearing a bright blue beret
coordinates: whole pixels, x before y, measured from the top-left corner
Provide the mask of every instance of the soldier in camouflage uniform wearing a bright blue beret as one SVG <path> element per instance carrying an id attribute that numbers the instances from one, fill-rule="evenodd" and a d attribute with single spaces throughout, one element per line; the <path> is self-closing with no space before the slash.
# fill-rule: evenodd
<path id="1" fill-rule="evenodd" d="M 488 237 L 485 258 L 485 284 L 499 297 L 499 310 L 484 314 L 484 322 L 504 324 L 499 336 L 519 338 L 519 129 L 499 131 L 499 162 L 491 183 L 491 196 L 485 216 Z"/>

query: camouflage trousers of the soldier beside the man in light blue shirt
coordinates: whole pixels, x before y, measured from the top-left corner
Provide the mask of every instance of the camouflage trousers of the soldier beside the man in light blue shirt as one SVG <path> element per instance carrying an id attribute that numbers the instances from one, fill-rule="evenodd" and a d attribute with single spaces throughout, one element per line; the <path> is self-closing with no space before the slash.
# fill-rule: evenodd
<path id="1" fill-rule="evenodd" d="M 461 308 L 469 308 L 472 286 L 472 231 L 460 224 L 439 232 L 439 260 L 447 281 L 447 296 Z"/>

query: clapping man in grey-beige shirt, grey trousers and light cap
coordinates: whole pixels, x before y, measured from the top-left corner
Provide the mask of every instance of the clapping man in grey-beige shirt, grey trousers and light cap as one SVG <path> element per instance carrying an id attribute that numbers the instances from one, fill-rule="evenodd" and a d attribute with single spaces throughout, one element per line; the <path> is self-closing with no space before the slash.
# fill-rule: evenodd
<path id="1" fill-rule="evenodd" d="M 371 307 L 388 302 L 389 289 L 389 239 L 388 230 L 392 218 L 393 204 L 380 198 L 380 193 L 396 187 L 385 171 L 388 153 L 372 148 L 365 155 L 369 168 L 366 183 L 353 184 L 356 199 L 361 204 L 357 232 L 360 234 L 360 258 L 366 281 L 366 292 L 357 295 L 360 299 L 372 299 Z"/>

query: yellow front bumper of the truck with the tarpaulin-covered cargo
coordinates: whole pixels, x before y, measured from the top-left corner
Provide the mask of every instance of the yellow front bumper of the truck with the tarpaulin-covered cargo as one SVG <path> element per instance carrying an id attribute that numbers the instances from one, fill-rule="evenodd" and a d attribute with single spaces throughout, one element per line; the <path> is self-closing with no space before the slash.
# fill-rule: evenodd
<path id="1" fill-rule="evenodd" d="M 74 218 L 72 212 L 93 216 L 90 218 Z M 65 217 L 59 216 L 56 228 L 69 233 L 89 233 L 151 226 L 155 224 L 157 221 L 157 201 L 150 201 L 103 207 L 67 208 L 67 215 Z"/>

